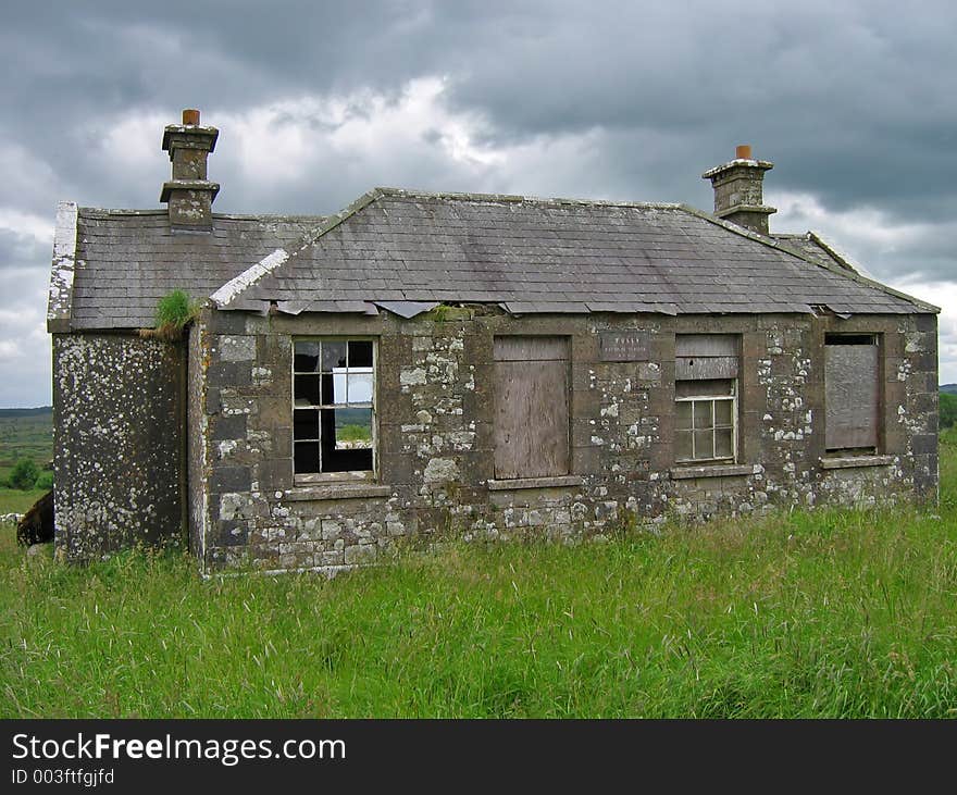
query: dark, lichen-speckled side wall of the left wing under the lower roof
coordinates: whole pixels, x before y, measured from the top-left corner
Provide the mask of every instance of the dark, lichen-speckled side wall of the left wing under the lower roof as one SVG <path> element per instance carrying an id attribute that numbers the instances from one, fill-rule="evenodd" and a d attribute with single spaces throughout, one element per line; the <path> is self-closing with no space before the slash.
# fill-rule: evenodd
<path id="1" fill-rule="evenodd" d="M 82 561 L 183 529 L 183 349 L 53 335 L 58 555 Z"/>

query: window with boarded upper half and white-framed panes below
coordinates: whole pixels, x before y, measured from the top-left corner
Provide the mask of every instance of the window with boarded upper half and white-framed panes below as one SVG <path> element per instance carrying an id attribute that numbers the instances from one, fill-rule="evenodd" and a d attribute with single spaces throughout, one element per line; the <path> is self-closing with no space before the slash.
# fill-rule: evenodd
<path id="1" fill-rule="evenodd" d="M 681 463 L 737 457 L 737 336 L 675 337 L 674 458 Z"/>

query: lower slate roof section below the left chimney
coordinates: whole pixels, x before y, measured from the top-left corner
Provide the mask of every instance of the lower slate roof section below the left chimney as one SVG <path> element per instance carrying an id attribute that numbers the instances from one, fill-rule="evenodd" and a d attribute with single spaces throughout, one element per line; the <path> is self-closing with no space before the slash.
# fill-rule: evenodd
<path id="1" fill-rule="evenodd" d="M 195 234 L 171 232 L 165 209 L 79 208 L 71 326 L 152 326 L 157 302 L 170 291 L 206 298 L 323 220 L 214 214 L 212 233 Z"/>

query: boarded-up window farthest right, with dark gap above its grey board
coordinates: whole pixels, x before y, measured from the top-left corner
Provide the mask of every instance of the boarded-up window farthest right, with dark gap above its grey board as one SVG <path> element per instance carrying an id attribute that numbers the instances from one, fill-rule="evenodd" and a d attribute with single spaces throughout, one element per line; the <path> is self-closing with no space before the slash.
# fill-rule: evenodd
<path id="1" fill-rule="evenodd" d="M 824 341 L 824 446 L 875 451 L 881 401 L 878 337 L 829 334 Z"/>

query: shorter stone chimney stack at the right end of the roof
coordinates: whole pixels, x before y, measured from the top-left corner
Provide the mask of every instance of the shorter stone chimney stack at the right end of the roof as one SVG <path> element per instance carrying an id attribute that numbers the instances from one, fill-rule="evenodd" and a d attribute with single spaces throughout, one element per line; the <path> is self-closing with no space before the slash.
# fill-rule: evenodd
<path id="1" fill-rule="evenodd" d="M 755 160 L 747 144 L 737 147 L 734 160 L 701 174 L 714 188 L 714 214 L 761 235 L 770 234 L 768 216 L 778 212 L 763 198 L 765 172 L 774 167 L 767 160 Z"/>

